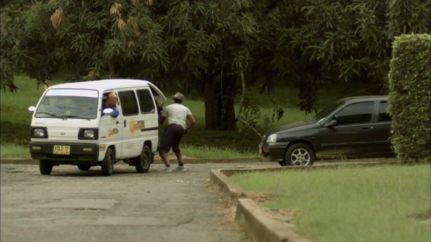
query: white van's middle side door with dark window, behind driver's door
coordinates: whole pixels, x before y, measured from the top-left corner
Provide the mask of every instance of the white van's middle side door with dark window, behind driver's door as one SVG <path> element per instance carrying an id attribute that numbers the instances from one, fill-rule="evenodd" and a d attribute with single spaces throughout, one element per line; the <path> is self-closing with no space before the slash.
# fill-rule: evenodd
<path id="1" fill-rule="evenodd" d="M 121 158 L 139 156 L 142 142 L 137 134 L 136 123 L 139 119 L 139 107 L 134 89 L 118 90 L 118 99 L 121 105 L 123 149 Z M 139 130 L 140 131 L 140 130 Z"/>

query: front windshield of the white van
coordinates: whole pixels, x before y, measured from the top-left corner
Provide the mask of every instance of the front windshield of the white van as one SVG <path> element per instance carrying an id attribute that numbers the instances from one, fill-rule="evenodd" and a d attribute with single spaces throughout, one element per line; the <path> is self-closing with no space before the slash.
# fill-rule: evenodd
<path id="1" fill-rule="evenodd" d="M 37 107 L 37 118 L 95 119 L 98 92 L 84 89 L 51 89 Z"/>

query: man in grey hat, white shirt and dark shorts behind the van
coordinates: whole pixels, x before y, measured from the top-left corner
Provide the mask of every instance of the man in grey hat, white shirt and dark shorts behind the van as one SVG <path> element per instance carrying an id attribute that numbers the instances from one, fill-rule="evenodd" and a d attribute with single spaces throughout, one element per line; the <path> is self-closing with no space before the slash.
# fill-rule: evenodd
<path id="1" fill-rule="evenodd" d="M 159 145 L 159 154 L 165 163 L 166 167 L 162 170 L 162 172 L 171 172 L 172 168 L 169 164 L 168 153 L 172 148 L 172 151 L 175 153 L 178 159 L 178 167 L 175 168 L 176 171 L 185 171 L 186 168 L 183 164 L 183 158 L 181 156 L 181 150 L 179 148 L 179 144 L 181 138 L 184 134 L 187 134 L 191 128 L 193 128 L 195 124 L 195 120 L 193 115 L 186 106 L 182 103 L 184 101 L 184 95 L 177 92 L 174 96 L 172 96 L 173 103 L 168 105 L 163 111 L 159 118 L 159 124 L 163 124 L 163 122 L 168 118 L 168 125 L 165 127 L 165 132 L 162 136 Z M 188 126 L 186 121 L 188 120 Z"/>

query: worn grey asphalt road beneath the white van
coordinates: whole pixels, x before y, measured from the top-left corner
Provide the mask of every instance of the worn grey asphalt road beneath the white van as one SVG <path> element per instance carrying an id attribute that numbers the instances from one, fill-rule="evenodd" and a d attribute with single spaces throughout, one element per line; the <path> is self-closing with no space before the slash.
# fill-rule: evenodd
<path id="1" fill-rule="evenodd" d="M 273 163 L 190 164 L 185 172 L 149 173 L 119 163 L 111 177 L 35 165 L 0 165 L 1 242 L 236 242 L 220 197 L 207 188 L 218 168 Z M 173 166 L 174 167 L 174 166 Z"/>

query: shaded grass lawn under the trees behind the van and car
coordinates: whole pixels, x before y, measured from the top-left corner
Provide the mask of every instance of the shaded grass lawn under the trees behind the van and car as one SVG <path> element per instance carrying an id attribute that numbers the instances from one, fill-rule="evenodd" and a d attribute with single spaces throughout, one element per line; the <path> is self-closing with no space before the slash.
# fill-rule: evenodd
<path id="1" fill-rule="evenodd" d="M 58 83 L 58 81 L 48 82 L 49 85 L 56 83 Z M 27 150 L 26 147 L 30 139 L 29 130 L 31 115 L 27 112 L 27 108 L 31 105 L 37 104 L 44 88 L 43 86 L 39 86 L 39 89 L 37 89 L 36 81 L 30 80 L 28 77 L 23 75 L 16 76 L 15 84 L 19 87 L 17 93 L 6 91 L 1 93 L 0 96 L 0 142 L 2 144 L 2 150 L 8 145 L 8 147 L 14 147 L 14 152 L 7 153 L 9 154 L 7 156 L 10 156 L 11 154 L 26 156 L 27 153 L 21 154 L 19 150 Z M 169 98 L 171 93 L 175 93 L 177 91 L 184 92 L 186 95 L 186 101 L 184 104 L 190 108 L 196 119 L 195 128 L 183 139 L 182 148 L 185 155 L 207 157 L 210 154 L 217 158 L 258 156 L 257 145 L 260 142 L 260 137 L 253 131 L 250 129 L 244 129 L 244 126 L 241 126 L 241 124 L 239 124 L 240 131 L 206 130 L 205 104 L 202 101 L 202 97 L 197 93 L 192 92 L 187 94 L 184 90 L 177 90 L 174 89 L 174 87 L 170 88 L 172 88 L 172 90 L 163 90 L 166 96 Z M 265 124 L 263 119 L 259 121 L 259 130 L 262 133 L 269 128 L 302 121 L 308 117 L 303 111 L 300 111 L 296 107 L 296 104 L 299 103 L 297 88 L 278 86 L 270 93 L 270 95 L 267 93 L 260 94 L 258 90 L 259 88 L 257 86 L 250 86 L 247 89 L 246 95 L 249 97 L 255 97 L 253 98 L 253 104 L 260 107 L 262 115 L 271 116 L 275 107 L 281 107 L 284 109 L 284 116 L 280 121 L 276 121 L 273 124 Z M 319 108 L 348 95 L 346 93 L 359 95 L 360 93 L 356 90 L 357 86 L 328 88 L 327 90 L 322 90 L 321 93 L 319 93 Z M 239 104 L 240 98 L 241 95 L 239 94 L 237 96 L 237 104 Z M 170 100 L 168 100 L 168 102 L 170 102 Z M 236 109 L 238 111 L 238 106 L 236 106 Z M 160 129 L 160 132 L 162 131 L 163 130 Z M 10 144 L 14 145 L 11 146 Z M 21 147 L 17 147 L 16 145 L 20 145 Z M 3 154 L 1 157 L 3 157 Z"/>

